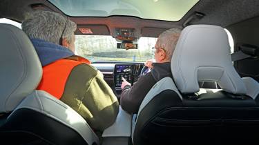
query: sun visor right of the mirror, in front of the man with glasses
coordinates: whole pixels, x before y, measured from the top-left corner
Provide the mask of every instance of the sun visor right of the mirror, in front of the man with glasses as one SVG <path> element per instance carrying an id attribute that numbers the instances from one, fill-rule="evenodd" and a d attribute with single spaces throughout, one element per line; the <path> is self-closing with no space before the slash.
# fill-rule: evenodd
<path id="1" fill-rule="evenodd" d="M 141 30 L 142 37 L 158 37 L 162 32 L 167 30 L 166 28 L 151 28 L 144 27 Z"/>

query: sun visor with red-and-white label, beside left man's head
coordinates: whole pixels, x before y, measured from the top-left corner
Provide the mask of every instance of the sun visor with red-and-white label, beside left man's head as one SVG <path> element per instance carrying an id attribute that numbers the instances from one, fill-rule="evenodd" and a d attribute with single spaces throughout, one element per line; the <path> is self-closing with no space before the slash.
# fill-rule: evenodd
<path id="1" fill-rule="evenodd" d="M 110 35 L 106 25 L 77 25 L 75 35 Z"/>

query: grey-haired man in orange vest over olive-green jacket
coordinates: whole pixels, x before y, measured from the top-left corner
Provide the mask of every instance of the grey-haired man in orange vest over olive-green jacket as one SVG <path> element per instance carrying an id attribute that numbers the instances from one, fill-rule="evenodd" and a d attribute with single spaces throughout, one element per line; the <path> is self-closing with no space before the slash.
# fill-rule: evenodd
<path id="1" fill-rule="evenodd" d="M 34 12 L 21 24 L 37 51 L 45 90 L 77 111 L 95 131 L 104 131 L 117 117 L 119 103 L 101 72 L 74 55 L 76 24 L 61 14 Z"/>

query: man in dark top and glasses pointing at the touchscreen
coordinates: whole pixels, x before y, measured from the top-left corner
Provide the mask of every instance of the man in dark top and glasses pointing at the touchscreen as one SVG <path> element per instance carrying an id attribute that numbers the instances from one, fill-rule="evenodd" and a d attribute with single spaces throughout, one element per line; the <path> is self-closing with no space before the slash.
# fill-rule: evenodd
<path id="1" fill-rule="evenodd" d="M 155 44 L 155 61 L 146 61 L 145 66 L 153 68 L 151 72 L 142 75 L 137 82 L 131 84 L 123 79 L 120 104 L 128 113 L 137 113 L 144 97 L 157 81 L 164 77 L 172 77 L 171 57 L 181 30 L 172 28 L 162 32 Z"/>

